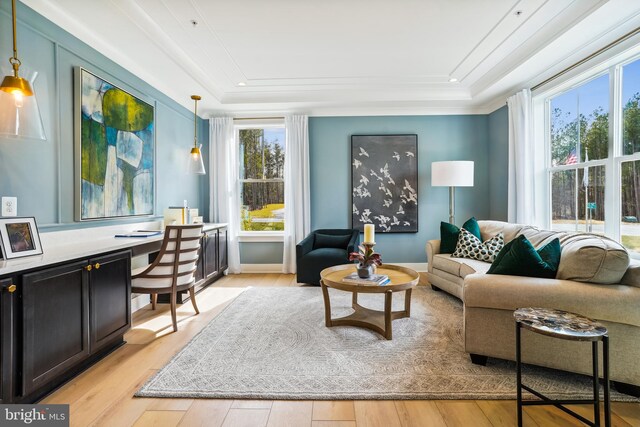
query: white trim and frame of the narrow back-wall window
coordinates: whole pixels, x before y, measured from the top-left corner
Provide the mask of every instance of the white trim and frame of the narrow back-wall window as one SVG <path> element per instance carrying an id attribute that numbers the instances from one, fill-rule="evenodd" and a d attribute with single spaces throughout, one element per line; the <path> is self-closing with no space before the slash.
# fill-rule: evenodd
<path id="1" fill-rule="evenodd" d="M 235 139 L 236 158 L 238 163 L 236 165 L 236 191 L 238 192 L 238 200 L 241 199 L 240 194 L 242 191 L 242 183 L 244 182 L 285 182 L 284 174 L 282 178 L 269 178 L 269 179 L 255 179 L 255 178 L 240 178 L 240 130 L 241 129 L 284 129 L 286 135 L 286 128 L 284 126 L 284 119 L 252 119 L 243 120 L 242 123 L 233 124 L 233 133 Z M 238 205 L 238 214 L 240 214 L 241 205 Z M 240 216 L 238 216 L 240 221 Z M 286 218 L 285 218 L 286 224 Z M 284 231 L 245 231 L 241 229 L 241 224 L 238 227 L 237 237 L 238 242 L 284 242 Z"/>

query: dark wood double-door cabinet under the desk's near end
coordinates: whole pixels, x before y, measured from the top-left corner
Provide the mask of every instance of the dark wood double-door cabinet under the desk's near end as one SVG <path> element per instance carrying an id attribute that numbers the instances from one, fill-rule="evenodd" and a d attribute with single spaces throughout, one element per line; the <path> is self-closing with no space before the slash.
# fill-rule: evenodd
<path id="1" fill-rule="evenodd" d="M 27 400 L 62 383 L 131 327 L 131 253 L 22 276 L 22 389 Z"/>

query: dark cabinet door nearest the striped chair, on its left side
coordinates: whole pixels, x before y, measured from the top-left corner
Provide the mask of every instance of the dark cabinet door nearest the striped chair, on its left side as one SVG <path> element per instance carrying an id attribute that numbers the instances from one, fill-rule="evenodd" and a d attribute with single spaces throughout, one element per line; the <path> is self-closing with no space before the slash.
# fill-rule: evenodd
<path id="1" fill-rule="evenodd" d="M 131 327 L 131 253 L 89 260 L 91 353 L 119 339 Z"/>

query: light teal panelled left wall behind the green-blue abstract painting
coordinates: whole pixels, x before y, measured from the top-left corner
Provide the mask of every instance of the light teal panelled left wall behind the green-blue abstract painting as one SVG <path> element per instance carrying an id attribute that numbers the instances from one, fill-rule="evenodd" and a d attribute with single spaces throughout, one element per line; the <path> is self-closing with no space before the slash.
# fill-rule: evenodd
<path id="1" fill-rule="evenodd" d="M 0 59 L 11 56 L 11 2 L 0 2 Z M 155 106 L 156 215 L 164 207 L 189 205 L 208 214 L 208 175 L 186 174 L 193 142 L 193 112 L 151 87 L 60 27 L 18 3 L 18 52 L 23 68 L 38 71 L 35 91 L 46 142 L 0 137 L 0 196 L 18 197 L 18 214 L 35 216 L 41 230 L 140 221 L 74 222 L 73 69 L 82 66 Z M 8 63 L 7 63 L 8 64 Z M 3 69 L 3 73 L 6 70 Z M 206 120 L 199 139 L 208 146 Z M 208 150 L 205 150 L 205 161 Z"/>

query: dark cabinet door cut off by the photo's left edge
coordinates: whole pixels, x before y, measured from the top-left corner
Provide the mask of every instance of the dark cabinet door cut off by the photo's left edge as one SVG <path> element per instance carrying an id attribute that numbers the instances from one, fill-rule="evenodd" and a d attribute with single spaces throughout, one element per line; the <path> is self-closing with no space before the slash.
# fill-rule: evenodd
<path id="1" fill-rule="evenodd" d="M 0 280 L 0 404 L 13 399 L 15 355 L 15 285 L 11 278 Z"/>

